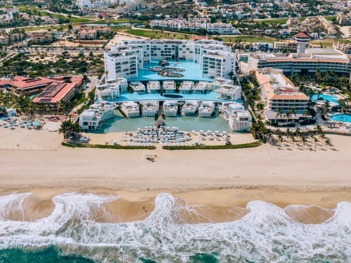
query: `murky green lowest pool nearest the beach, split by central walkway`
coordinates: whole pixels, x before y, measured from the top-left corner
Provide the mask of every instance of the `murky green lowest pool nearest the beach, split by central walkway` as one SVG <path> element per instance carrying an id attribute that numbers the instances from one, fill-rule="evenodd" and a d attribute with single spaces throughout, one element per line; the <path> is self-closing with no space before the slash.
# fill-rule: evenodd
<path id="1" fill-rule="evenodd" d="M 218 130 L 220 133 L 227 131 L 232 133 L 229 128 L 228 122 L 222 117 L 218 116 L 218 109 L 216 111 L 216 116 L 212 118 L 204 118 L 199 116 L 177 116 L 177 117 L 165 117 L 164 121 L 166 126 L 178 127 L 183 131 L 200 131 L 200 130 Z M 116 110 L 116 116 L 111 119 L 106 120 L 100 130 L 89 131 L 92 133 L 112 133 L 120 131 L 134 131 L 137 128 L 144 128 L 145 126 L 154 126 L 154 117 L 132 117 L 125 119 L 118 110 Z"/>

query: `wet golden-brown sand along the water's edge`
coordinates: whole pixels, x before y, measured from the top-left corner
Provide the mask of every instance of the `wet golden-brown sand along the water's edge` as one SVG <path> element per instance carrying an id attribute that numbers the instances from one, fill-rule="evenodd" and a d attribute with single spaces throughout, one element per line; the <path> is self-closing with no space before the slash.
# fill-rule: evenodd
<path id="1" fill-rule="evenodd" d="M 2 215 L 8 220 L 35 221 L 52 214 L 55 204 L 52 198 L 69 193 L 70 189 L 33 189 L 32 195 L 24 198 L 21 208 L 14 204 L 13 208 Z M 24 191 L 24 192 L 30 192 Z M 296 192 L 273 190 L 201 190 L 171 192 L 167 190 L 153 191 L 106 191 L 86 190 L 84 193 L 119 196 L 115 201 L 104 203 L 92 211 L 93 220 L 106 223 L 120 223 L 143 220 L 155 207 L 155 197 L 159 193 L 170 193 L 176 197 L 173 209 L 178 212 L 179 223 L 218 223 L 239 220 L 247 213 L 247 203 L 264 201 L 284 209 L 293 221 L 304 224 L 320 224 L 329 220 L 335 213 L 333 210 L 342 201 L 351 202 L 349 191 L 330 192 Z M 13 193 L 1 191 L 0 196 Z"/>

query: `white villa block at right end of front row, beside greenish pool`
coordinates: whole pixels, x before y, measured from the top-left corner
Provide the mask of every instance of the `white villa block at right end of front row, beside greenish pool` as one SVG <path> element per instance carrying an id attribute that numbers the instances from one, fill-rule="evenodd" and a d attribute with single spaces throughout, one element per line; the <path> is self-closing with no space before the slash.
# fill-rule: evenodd
<path id="1" fill-rule="evenodd" d="M 243 104 L 233 102 L 229 105 L 219 106 L 221 116 L 228 120 L 229 126 L 233 131 L 249 130 L 252 125 L 252 117 L 245 110 Z"/>

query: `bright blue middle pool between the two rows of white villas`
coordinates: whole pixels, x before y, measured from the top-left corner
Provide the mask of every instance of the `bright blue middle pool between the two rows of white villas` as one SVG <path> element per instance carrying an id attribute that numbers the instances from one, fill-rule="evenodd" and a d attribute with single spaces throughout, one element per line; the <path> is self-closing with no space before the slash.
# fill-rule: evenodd
<path id="1" fill-rule="evenodd" d="M 207 91 L 206 93 L 164 93 L 180 95 L 182 98 L 170 98 L 163 97 L 160 93 L 129 93 L 122 92 L 117 99 L 110 99 L 107 101 L 111 102 L 125 102 L 125 101 L 146 101 L 146 100 L 157 100 L 157 101 L 166 101 L 166 100 L 177 100 L 177 101 L 185 101 L 185 100 L 197 100 L 197 101 L 214 101 L 214 102 L 230 102 L 229 100 L 218 99 L 218 93 L 213 91 Z M 241 103 L 241 100 L 237 100 L 236 102 Z"/>

